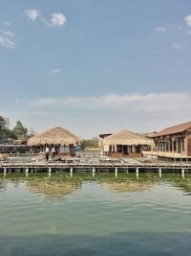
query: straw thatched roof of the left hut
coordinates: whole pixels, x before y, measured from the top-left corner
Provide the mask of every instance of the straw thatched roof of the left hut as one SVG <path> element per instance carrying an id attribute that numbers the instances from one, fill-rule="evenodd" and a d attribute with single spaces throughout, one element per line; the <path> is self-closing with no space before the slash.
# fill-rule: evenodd
<path id="1" fill-rule="evenodd" d="M 51 128 L 39 135 L 33 136 L 28 140 L 28 145 L 76 145 L 81 144 L 82 140 L 76 137 L 71 131 L 66 128 Z"/>

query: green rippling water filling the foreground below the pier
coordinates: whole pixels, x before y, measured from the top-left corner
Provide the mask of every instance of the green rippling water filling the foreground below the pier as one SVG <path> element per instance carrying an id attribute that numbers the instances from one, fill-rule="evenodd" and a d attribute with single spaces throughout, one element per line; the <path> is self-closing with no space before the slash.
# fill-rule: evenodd
<path id="1" fill-rule="evenodd" d="M 0 255 L 190 255 L 191 176 L 0 175 Z"/>

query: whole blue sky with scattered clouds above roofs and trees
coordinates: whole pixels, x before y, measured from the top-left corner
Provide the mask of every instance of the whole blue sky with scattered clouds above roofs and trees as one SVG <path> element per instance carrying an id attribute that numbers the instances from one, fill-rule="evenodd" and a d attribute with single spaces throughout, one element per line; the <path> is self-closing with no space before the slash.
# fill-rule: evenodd
<path id="1" fill-rule="evenodd" d="M 0 0 L 0 115 L 83 138 L 191 121 L 190 0 Z"/>

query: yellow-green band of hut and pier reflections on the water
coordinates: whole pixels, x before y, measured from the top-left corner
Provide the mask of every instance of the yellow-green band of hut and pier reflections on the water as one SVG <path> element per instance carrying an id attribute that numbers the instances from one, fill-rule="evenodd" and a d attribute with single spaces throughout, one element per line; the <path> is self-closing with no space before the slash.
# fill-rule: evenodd
<path id="1" fill-rule="evenodd" d="M 9 181 L 14 184 L 26 182 L 32 193 L 53 198 L 62 198 L 80 189 L 83 182 L 98 182 L 107 189 L 120 193 L 143 191 L 164 182 L 191 193 L 191 175 L 180 174 L 1 174 L 0 190 L 5 189 Z"/>

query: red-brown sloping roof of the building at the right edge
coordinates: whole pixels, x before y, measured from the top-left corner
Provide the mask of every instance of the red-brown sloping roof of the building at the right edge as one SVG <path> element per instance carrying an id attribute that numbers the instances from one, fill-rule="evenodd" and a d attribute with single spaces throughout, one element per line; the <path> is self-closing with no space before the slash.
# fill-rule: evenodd
<path id="1" fill-rule="evenodd" d="M 175 133 L 185 131 L 189 128 L 191 128 L 191 122 L 183 123 L 183 124 L 180 124 L 180 125 L 177 125 L 177 126 L 174 126 L 174 127 L 170 127 L 170 128 L 164 128 L 164 129 L 160 130 L 153 137 L 175 134 Z"/>

